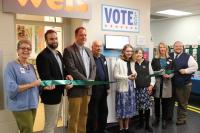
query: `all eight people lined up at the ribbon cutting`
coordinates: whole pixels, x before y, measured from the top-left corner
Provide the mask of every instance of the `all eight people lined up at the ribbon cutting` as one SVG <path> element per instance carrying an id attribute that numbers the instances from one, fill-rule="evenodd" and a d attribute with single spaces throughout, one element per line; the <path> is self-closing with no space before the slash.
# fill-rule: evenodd
<path id="1" fill-rule="evenodd" d="M 41 87 L 41 80 L 97 80 L 109 81 L 107 61 L 102 55 L 102 43 L 94 41 L 92 50 L 85 46 L 84 27 L 75 30 L 75 42 L 64 49 L 63 56 L 56 50 L 58 37 L 54 30 L 44 35 L 47 47 L 36 58 L 37 71 L 28 63 L 32 45 L 22 39 L 17 44 L 18 58 L 7 64 L 4 82 L 8 108 L 12 111 L 21 133 L 32 133 L 39 96 L 44 103 L 44 133 L 54 133 L 62 96 L 66 89 L 69 103 L 68 133 L 106 133 L 109 84 L 49 85 Z M 127 44 L 116 61 L 113 76 L 116 87 L 115 110 L 119 132 L 129 133 L 129 119 L 139 114 L 138 128 L 153 132 L 150 124 L 151 95 L 154 96 L 155 120 L 162 128 L 173 118 L 177 100 L 177 125 L 186 123 L 187 104 L 191 91 L 191 76 L 198 69 L 192 56 L 184 53 L 180 41 L 174 43 L 174 52 L 160 43 L 152 62 L 143 58 L 143 49 Z M 158 74 L 155 74 L 157 72 Z M 39 77 L 37 77 L 37 73 Z M 176 97 L 176 99 L 175 99 Z"/>

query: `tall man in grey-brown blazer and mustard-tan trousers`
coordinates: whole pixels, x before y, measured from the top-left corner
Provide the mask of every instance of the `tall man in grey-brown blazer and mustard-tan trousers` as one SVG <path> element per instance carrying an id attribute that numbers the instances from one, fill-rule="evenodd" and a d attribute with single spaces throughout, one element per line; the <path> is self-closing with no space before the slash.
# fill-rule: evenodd
<path id="1" fill-rule="evenodd" d="M 92 52 L 84 46 L 86 36 L 86 29 L 78 27 L 75 30 L 75 43 L 64 50 L 64 63 L 74 80 L 95 79 L 95 61 Z M 74 86 L 68 91 L 70 115 L 68 133 L 86 132 L 89 95 L 91 95 L 91 86 Z"/>

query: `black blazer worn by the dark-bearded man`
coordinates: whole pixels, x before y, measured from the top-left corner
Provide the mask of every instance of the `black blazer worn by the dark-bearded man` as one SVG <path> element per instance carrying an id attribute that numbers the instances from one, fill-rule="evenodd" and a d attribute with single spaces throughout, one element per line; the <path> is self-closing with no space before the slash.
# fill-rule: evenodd
<path id="1" fill-rule="evenodd" d="M 63 62 L 62 55 L 58 55 Z M 63 75 L 59 64 L 49 48 L 45 48 L 36 58 L 36 67 L 41 80 L 62 80 L 65 75 L 64 65 L 62 64 Z M 44 104 L 59 104 L 63 94 L 64 86 L 56 86 L 54 90 L 42 90 L 41 99 Z"/>

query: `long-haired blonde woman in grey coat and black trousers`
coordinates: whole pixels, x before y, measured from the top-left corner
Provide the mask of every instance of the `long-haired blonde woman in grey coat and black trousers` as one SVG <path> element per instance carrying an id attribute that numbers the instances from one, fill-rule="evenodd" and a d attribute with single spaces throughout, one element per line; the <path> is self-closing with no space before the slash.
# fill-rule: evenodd
<path id="1" fill-rule="evenodd" d="M 172 59 L 168 55 L 168 46 L 161 42 L 158 45 L 158 50 L 155 58 L 152 60 L 152 69 L 154 71 L 172 70 Z M 154 126 L 158 126 L 160 122 L 160 102 L 162 104 L 162 128 L 167 128 L 167 113 L 169 111 L 170 100 L 172 97 L 172 82 L 173 73 L 156 76 L 155 84 L 155 121 Z"/>

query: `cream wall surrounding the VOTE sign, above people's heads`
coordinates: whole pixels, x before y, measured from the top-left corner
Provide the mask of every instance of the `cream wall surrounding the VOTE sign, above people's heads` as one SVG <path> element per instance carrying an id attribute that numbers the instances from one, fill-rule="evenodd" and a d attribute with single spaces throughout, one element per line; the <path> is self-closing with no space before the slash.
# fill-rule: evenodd
<path id="1" fill-rule="evenodd" d="M 138 9 L 140 11 L 140 32 L 131 33 L 131 32 L 112 32 L 112 31 L 102 31 L 101 29 L 101 6 L 112 5 L 119 6 L 124 8 Z M 128 35 L 130 36 L 131 44 L 136 44 L 136 37 L 138 35 L 144 36 L 146 40 L 146 47 L 150 44 L 150 0 L 95 0 L 91 1 L 92 5 L 92 18 L 90 20 L 80 20 L 72 19 L 71 20 L 71 39 L 74 39 L 74 29 L 78 26 L 84 26 L 87 29 L 88 33 L 88 46 L 91 46 L 93 40 L 98 39 L 104 42 L 105 34 L 113 35 Z"/>

